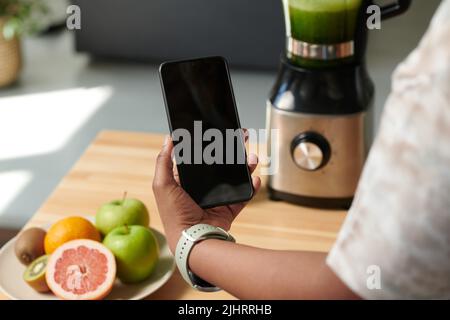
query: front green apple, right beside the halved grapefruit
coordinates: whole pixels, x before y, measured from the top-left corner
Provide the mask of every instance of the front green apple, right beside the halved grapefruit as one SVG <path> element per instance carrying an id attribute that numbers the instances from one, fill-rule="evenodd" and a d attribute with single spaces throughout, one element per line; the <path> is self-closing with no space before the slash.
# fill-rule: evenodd
<path id="1" fill-rule="evenodd" d="M 147 279 L 158 262 L 158 242 L 153 232 L 143 226 L 115 228 L 103 244 L 116 257 L 117 276 L 124 283 Z"/>

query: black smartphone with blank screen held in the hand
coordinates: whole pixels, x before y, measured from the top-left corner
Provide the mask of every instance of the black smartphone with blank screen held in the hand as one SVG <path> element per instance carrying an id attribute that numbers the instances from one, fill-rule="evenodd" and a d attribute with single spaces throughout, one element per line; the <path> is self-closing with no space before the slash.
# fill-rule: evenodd
<path id="1" fill-rule="evenodd" d="M 248 201 L 253 185 L 226 60 L 159 69 L 180 184 L 202 208 Z"/>

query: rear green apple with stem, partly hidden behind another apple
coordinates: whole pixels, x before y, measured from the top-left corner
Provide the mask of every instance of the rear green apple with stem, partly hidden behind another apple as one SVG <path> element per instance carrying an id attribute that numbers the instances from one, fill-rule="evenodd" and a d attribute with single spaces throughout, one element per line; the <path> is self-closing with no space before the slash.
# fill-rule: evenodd
<path id="1" fill-rule="evenodd" d="M 105 236 L 121 226 L 148 227 L 150 217 L 145 204 L 137 199 L 115 200 L 104 204 L 95 216 L 95 226 Z"/>

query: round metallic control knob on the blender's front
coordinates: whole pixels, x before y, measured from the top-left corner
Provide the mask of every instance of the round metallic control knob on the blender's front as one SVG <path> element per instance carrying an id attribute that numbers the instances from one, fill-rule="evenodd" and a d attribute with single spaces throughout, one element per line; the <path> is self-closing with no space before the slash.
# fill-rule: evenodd
<path id="1" fill-rule="evenodd" d="M 316 171 L 327 164 L 331 151 L 323 136 L 315 132 L 305 132 L 292 141 L 291 154 L 298 167 Z"/>

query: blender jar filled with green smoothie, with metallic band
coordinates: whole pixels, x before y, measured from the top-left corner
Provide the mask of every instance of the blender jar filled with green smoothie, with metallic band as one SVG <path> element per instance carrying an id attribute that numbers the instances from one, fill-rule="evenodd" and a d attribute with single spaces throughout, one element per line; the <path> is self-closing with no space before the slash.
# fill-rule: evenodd
<path id="1" fill-rule="evenodd" d="M 351 62 L 364 0 L 283 0 L 287 55 L 301 67 Z"/>

